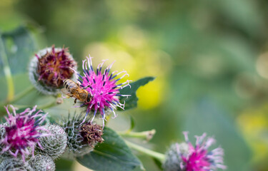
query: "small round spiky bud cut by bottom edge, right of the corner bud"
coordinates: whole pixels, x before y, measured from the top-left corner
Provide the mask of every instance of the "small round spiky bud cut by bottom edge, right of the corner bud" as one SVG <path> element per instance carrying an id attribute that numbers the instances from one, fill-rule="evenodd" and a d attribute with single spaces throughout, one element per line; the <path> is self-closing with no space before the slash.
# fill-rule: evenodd
<path id="1" fill-rule="evenodd" d="M 31 158 L 29 164 L 34 170 L 38 171 L 54 171 L 55 163 L 51 157 L 48 155 L 35 155 L 34 158 Z"/>

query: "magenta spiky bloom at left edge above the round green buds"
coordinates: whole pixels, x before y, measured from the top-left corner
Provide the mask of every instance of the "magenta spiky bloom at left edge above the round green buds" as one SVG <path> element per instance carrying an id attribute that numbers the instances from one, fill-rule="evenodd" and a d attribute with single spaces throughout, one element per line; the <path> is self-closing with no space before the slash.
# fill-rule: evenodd
<path id="1" fill-rule="evenodd" d="M 9 106 L 13 113 L 9 113 Z M 0 140 L 0 143 L 3 145 L 1 153 L 9 152 L 14 157 L 20 154 L 22 160 L 25 161 L 25 157 L 30 154 L 29 148 L 32 155 L 34 155 L 36 144 L 41 147 L 38 138 L 49 135 L 48 133 L 39 132 L 39 130 L 44 130 L 40 124 L 44 122 L 46 115 L 41 113 L 41 110 L 35 113 L 36 106 L 33 109 L 26 108 L 21 113 L 16 113 L 13 105 L 9 106 L 6 106 L 6 112 L 8 113 L 6 123 L 8 125 L 4 126 L 5 135 Z"/>

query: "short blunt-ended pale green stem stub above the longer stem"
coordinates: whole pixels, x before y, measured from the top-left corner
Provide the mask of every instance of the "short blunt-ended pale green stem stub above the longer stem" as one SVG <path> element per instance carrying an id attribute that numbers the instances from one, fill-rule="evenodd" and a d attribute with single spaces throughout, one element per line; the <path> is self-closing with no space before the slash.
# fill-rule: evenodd
<path id="1" fill-rule="evenodd" d="M 130 138 L 145 138 L 151 140 L 155 134 L 155 130 L 147 130 L 142 132 L 131 132 L 129 130 L 124 132 L 117 132 L 119 135 Z"/>

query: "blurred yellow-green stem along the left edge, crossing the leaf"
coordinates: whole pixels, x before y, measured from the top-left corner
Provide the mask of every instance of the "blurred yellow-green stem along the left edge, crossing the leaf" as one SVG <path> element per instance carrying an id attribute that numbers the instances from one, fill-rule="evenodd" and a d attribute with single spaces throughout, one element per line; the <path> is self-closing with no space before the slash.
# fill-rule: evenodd
<path id="1" fill-rule="evenodd" d="M 1 36 L 1 33 L 0 33 Z M 4 63 L 4 75 L 6 77 L 6 84 L 7 84 L 7 96 L 6 96 L 6 101 L 12 100 L 14 98 L 14 83 L 12 79 L 12 74 L 11 70 L 9 68 L 9 61 L 7 59 L 5 50 L 4 50 L 4 43 L 2 39 L 0 38 L 0 58 L 2 58 L 2 62 Z"/>

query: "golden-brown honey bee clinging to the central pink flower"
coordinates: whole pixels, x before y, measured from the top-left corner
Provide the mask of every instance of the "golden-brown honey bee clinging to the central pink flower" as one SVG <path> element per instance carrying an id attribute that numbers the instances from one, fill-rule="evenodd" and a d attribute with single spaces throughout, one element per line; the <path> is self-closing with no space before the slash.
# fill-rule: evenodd
<path id="1" fill-rule="evenodd" d="M 64 88 L 61 89 L 61 92 L 69 97 L 74 97 L 74 103 L 76 103 L 77 99 L 84 103 L 89 103 L 92 99 L 92 95 L 85 90 L 86 88 L 80 88 L 78 83 L 74 83 L 74 81 L 67 79 L 64 81 Z"/>

